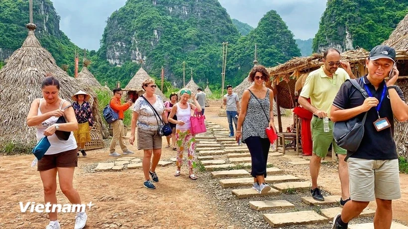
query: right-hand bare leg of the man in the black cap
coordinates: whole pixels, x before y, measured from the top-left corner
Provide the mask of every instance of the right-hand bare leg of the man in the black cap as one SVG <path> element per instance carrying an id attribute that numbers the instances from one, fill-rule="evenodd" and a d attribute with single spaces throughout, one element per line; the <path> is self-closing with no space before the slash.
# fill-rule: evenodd
<path id="1" fill-rule="evenodd" d="M 393 221 L 392 200 L 376 198 L 377 210 L 374 216 L 374 229 L 390 229 Z"/>

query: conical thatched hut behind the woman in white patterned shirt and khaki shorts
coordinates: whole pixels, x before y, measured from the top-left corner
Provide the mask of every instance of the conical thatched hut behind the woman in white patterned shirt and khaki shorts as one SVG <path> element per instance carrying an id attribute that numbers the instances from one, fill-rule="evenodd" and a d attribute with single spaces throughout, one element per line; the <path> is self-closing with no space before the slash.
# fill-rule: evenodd
<path id="1" fill-rule="evenodd" d="M 143 68 L 140 68 L 133 78 L 130 79 L 125 88 L 123 88 L 123 91 L 127 91 L 127 97 L 129 98 L 132 95 L 133 99 L 136 100 L 140 95 L 142 95 L 144 93 L 142 82 L 147 78 L 152 77 L 150 77 Z M 156 87 L 155 94 L 160 95 L 163 98 L 163 101 L 168 100 L 159 87 Z"/>

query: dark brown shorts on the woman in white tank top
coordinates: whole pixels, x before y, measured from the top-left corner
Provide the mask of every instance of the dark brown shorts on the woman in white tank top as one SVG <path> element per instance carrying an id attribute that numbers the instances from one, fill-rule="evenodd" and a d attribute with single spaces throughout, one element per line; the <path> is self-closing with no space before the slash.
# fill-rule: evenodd
<path id="1" fill-rule="evenodd" d="M 37 171 L 45 171 L 56 167 L 78 167 L 77 153 L 78 149 L 49 155 L 45 154 L 42 156 L 41 160 L 38 161 Z"/>

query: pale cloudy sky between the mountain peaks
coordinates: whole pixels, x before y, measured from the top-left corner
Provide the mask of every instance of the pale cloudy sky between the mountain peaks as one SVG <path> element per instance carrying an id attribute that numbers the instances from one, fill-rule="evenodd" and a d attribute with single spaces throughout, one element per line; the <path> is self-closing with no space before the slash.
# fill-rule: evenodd
<path id="1" fill-rule="evenodd" d="M 52 0 L 61 16 L 61 30 L 81 48 L 98 50 L 106 19 L 126 0 Z M 219 0 L 231 18 L 256 27 L 271 9 L 286 22 L 295 38 L 313 38 L 327 0 Z"/>

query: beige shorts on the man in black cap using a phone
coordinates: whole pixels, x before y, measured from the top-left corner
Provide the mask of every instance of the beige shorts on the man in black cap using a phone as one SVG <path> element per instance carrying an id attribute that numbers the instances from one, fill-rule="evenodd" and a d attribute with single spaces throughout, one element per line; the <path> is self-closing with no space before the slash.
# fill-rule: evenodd
<path id="1" fill-rule="evenodd" d="M 398 159 L 368 160 L 350 157 L 347 164 L 352 200 L 369 202 L 375 198 L 401 198 Z"/>

